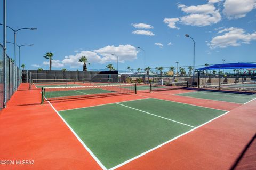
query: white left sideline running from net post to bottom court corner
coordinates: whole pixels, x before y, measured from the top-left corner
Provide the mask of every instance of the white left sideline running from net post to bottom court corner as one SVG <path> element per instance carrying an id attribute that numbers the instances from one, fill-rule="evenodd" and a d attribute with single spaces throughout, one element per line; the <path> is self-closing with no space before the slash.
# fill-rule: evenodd
<path id="1" fill-rule="evenodd" d="M 87 145 L 82 141 L 82 139 L 76 134 L 76 132 L 73 130 L 73 128 L 71 128 L 71 126 L 69 126 L 69 124 L 66 122 L 66 120 L 64 118 L 62 118 L 62 116 L 59 114 L 59 112 L 52 106 L 52 104 L 47 100 L 47 102 L 50 104 L 50 106 L 52 107 L 52 109 L 59 115 L 59 117 L 62 119 L 62 121 L 68 126 L 68 128 L 70 129 L 70 131 L 76 136 L 76 138 L 78 139 L 78 141 L 83 145 L 83 147 L 87 150 L 87 152 L 90 153 L 90 155 L 92 156 L 92 158 L 99 164 L 99 166 L 103 169 L 103 170 L 107 170 L 107 168 L 100 162 L 100 160 L 93 154 L 93 152 L 87 147 Z"/>

